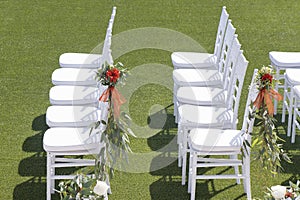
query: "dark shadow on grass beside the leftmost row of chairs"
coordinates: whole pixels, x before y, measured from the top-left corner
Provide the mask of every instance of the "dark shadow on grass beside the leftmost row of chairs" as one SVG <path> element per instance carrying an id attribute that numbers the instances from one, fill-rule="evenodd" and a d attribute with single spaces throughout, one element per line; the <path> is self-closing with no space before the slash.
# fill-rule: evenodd
<path id="1" fill-rule="evenodd" d="M 49 128 L 46 124 L 45 114 L 33 119 L 32 130 L 37 134 L 26 138 L 22 150 L 33 153 L 32 156 L 20 161 L 18 173 L 28 180 L 14 188 L 14 200 L 41 200 L 46 199 L 46 152 L 43 149 L 43 136 Z M 75 168 L 64 170 L 63 173 L 73 173 Z M 53 195 L 52 199 L 59 199 Z"/>

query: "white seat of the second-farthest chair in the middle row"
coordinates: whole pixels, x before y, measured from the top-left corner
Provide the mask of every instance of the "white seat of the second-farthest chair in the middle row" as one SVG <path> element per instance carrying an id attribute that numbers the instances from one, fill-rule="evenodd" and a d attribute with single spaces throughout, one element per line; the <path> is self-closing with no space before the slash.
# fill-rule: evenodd
<path id="1" fill-rule="evenodd" d="M 176 69 L 173 80 L 179 86 L 222 86 L 222 75 L 218 70 Z"/>

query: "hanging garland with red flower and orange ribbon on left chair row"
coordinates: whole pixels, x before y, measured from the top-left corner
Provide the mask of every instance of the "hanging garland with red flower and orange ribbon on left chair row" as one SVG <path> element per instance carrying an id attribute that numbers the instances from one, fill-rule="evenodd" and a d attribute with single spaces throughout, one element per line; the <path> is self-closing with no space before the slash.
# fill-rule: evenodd
<path id="1" fill-rule="evenodd" d="M 128 76 L 127 69 L 123 64 L 118 62 L 116 65 L 105 65 L 97 72 L 97 81 L 107 89 L 100 96 L 100 103 L 108 103 L 107 121 L 98 121 L 94 124 L 95 129 L 99 126 L 106 126 L 102 133 L 101 142 L 105 143 L 96 160 L 95 175 L 98 180 L 107 180 L 113 177 L 114 167 L 117 161 L 126 160 L 128 162 L 127 153 L 131 152 L 129 147 L 129 137 L 135 137 L 130 129 L 131 118 L 126 113 L 120 113 L 120 107 L 125 103 L 125 98 L 119 93 L 116 86 L 118 84 L 125 85 Z"/>

